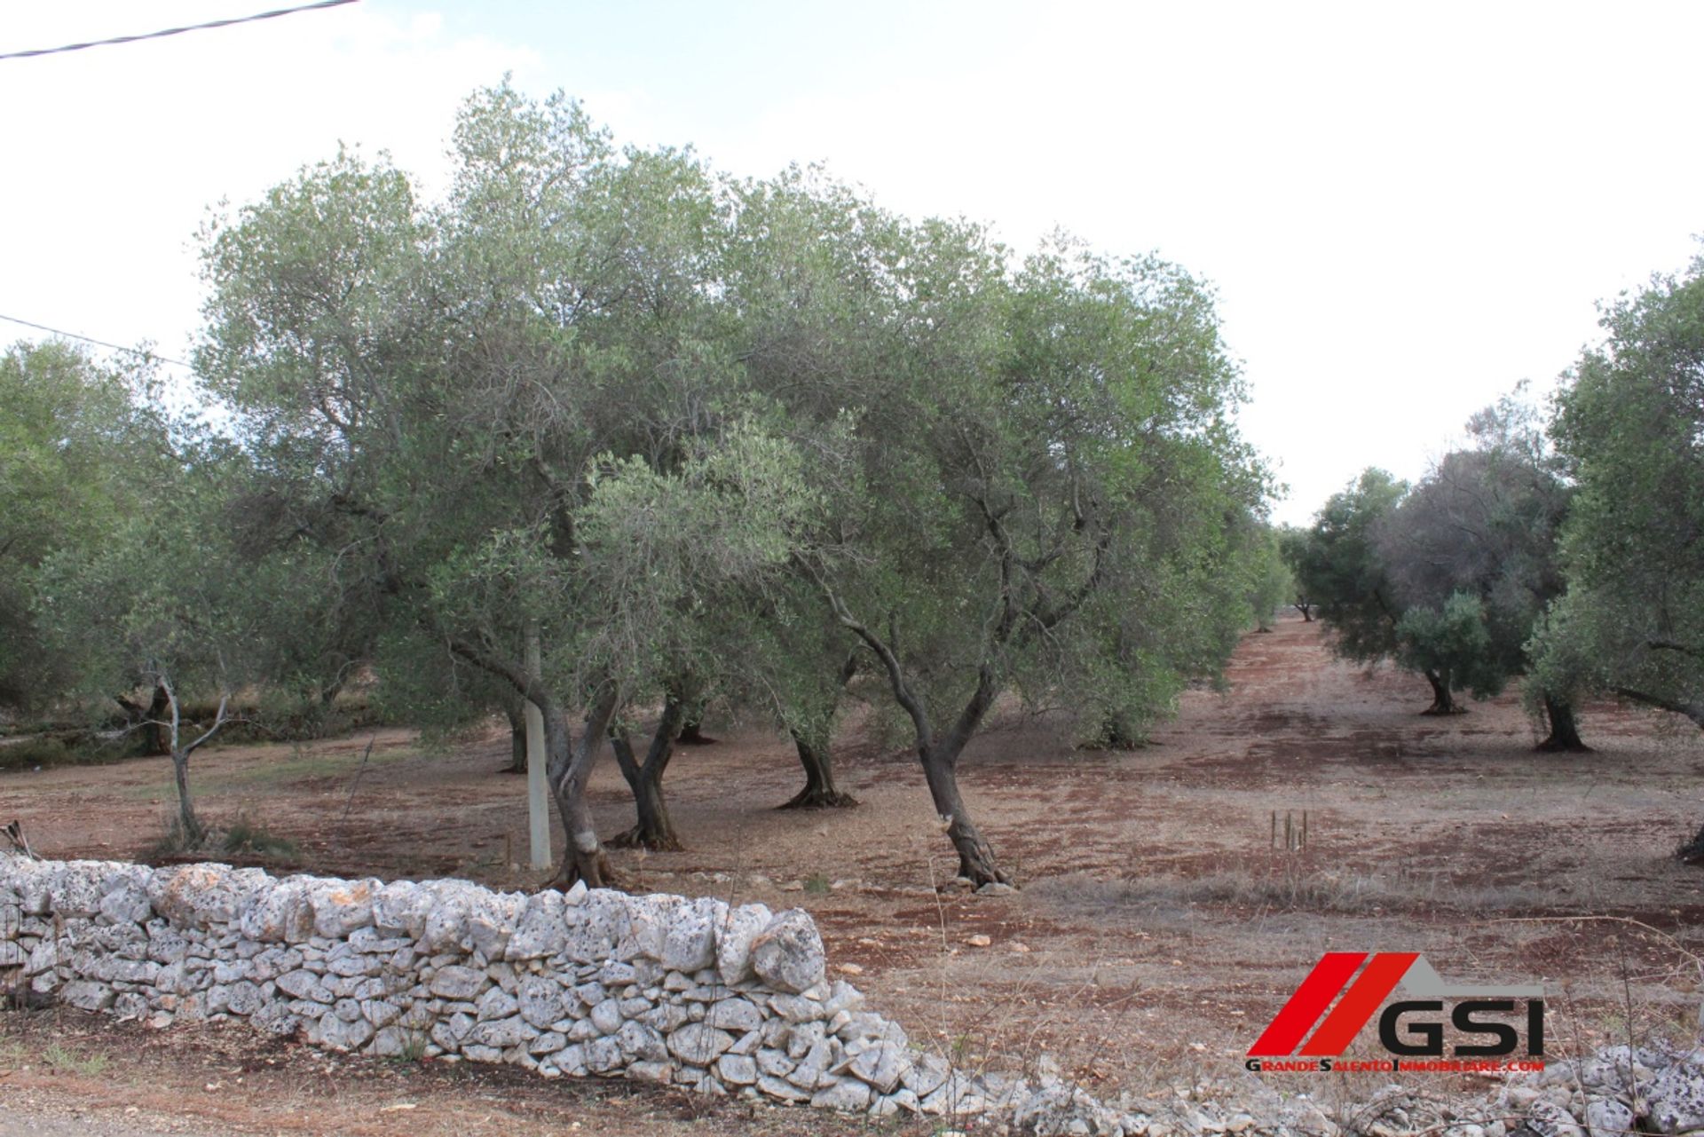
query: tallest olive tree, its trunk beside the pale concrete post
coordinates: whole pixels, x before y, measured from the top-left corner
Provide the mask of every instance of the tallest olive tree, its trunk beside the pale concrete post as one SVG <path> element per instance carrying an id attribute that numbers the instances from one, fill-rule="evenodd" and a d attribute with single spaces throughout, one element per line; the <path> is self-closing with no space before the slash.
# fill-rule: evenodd
<path id="1" fill-rule="evenodd" d="M 673 569 L 596 539 L 608 503 L 649 517 L 644 547 L 680 571 L 757 571 L 726 486 L 757 501 L 762 470 L 786 464 L 738 397 L 714 278 L 724 198 L 690 153 L 617 153 L 571 101 L 499 87 L 465 106 L 455 159 L 438 205 L 343 153 L 210 230 L 199 363 L 288 503 L 276 547 L 331 551 L 377 641 L 435 644 L 482 673 L 469 689 L 540 707 L 562 880 L 605 883 L 586 779 L 622 707 L 671 682 L 670 649 L 719 586 L 634 593 Z"/>

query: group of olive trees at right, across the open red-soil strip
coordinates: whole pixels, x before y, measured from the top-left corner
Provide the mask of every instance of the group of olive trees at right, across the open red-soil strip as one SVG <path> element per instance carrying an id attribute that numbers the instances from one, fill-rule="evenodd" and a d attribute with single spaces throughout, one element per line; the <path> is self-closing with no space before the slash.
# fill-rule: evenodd
<path id="1" fill-rule="evenodd" d="M 1704 728 L 1704 257 L 1603 307 L 1547 414 L 1474 414 L 1418 484 L 1368 469 L 1281 534 L 1341 655 L 1394 660 L 1428 714 L 1520 680 L 1542 750 L 1593 695 Z"/>

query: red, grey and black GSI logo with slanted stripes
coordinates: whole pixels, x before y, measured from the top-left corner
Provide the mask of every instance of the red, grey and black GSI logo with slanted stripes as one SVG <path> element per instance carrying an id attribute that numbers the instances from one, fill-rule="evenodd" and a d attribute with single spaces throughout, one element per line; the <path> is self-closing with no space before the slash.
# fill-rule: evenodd
<path id="1" fill-rule="evenodd" d="M 1411 997 L 1392 1002 L 1379 1016 L 1379 1042 L 1394 1055 L 1443 1057 L 1445 999 L 1455 1002 L 1448 1014 L 1455 1031 L 1484 1040 L 1457 1042 L 1452 1057 L 1501 1059 L 1515 1053 L 1522 1031 L 1503 1019 L 1518 1019 L 1522 1002 L 1527 1055 L 1544 1053 L 1544 987 L 1448 987 L 1416 951 L 1379 951 L 1372 958 L 1365 951 L 1327 951 L 1249 1047 L 1249 1057 L 1302 1055 L 1322 1059 L 1310 1069 L 1331 1069 L 1329 1059 L 1348 1048 L 1397 984 Z M 1264 1067 L 1275 1069 L 1271 1064 Z M 1261 1069 L 1261 1064 L 1251 1062 L 1249 1069 Z"/>

